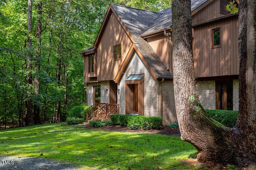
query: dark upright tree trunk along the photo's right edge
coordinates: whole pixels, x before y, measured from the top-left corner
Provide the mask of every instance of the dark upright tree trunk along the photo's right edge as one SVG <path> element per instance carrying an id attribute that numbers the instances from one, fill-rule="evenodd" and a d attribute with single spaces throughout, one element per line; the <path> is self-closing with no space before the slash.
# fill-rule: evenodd
<path id="1" fill-rule="evenodd" d="M 239 114 L 233 128 L 240 165 L 256 161 L 256 0 L 239 4 Z"/>

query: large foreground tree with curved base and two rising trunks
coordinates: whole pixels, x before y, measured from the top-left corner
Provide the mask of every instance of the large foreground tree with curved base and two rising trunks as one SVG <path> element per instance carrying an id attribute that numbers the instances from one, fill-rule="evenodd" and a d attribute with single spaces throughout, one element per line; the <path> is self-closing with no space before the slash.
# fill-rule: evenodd
<path id="1" fill-rule="evenodd" d="M 240 105 L 238 122 L 232 129 L 211 119 L 200 104 L 194 78 L 190 5 L 190 0 L 172 1 L 174 96 L 181 138 L 196 147 L 200 162 L 255 166 L 256 0 L 241 0 L 239 5 Z"/>

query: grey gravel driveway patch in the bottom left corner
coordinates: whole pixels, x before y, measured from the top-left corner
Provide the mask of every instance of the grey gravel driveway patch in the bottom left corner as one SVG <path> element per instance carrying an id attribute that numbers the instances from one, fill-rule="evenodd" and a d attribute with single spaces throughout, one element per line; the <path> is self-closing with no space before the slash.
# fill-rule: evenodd
<path id="1" fill-rule="evenodd" d="M 0 170 L 76 170 L 75 166 L 46 158 L 17 158 L 0 155 Z"/>

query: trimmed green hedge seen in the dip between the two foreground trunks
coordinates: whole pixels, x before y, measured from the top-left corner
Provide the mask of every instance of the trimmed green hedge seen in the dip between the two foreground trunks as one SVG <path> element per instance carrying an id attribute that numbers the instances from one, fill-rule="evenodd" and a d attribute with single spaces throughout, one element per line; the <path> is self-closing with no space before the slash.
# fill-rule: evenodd
<path id="1" fill-rule="evenodd" d="M 205 111 L 210 117 L 226 127 L 234 127 L 236 125 L 238 111 L 210 109 L 206 109 Z"/>

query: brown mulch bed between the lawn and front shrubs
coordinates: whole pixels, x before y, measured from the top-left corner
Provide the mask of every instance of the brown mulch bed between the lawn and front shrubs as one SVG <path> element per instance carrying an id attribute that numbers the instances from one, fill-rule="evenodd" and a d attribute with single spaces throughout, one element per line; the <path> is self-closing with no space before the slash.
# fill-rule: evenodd
<path id="1" fill-rule="evenodd" d="M 178 127 L 162 127 L 162 129 L 149 129 L 149 130 L 131 130 L 129 127 L 120 126 L 120 125 L 109 125 L 104 127 L 91 127 L 87 126 L 87 129 L 102 129 L 104 131 L 118 131 L 118 132 L 132 132 L 132 133 L 149 133 L 149 134 L 161 134 L 161 135 L 172 135 L 172 136 L 180 136 L 180 129 Z"/>

